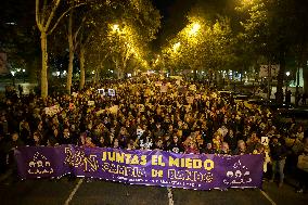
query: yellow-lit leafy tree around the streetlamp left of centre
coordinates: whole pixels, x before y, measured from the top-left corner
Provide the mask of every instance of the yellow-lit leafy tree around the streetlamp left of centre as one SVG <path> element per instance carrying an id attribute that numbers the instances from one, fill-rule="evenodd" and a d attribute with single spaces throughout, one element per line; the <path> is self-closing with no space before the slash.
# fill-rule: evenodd
<path id="1" fill-rule="evenodd" d="M 161 20 L 151 1 L 108 1 L 98 12 L 108 15 L 94 21 L 97 29 L 90 35 L 91 43 L 87 50 L 95 51 L 102 60 L 112 59 L 118 78 L 127 72 L 132 59 L 147 65 L 144 62 L 147 44 L 155 39 Z"/>

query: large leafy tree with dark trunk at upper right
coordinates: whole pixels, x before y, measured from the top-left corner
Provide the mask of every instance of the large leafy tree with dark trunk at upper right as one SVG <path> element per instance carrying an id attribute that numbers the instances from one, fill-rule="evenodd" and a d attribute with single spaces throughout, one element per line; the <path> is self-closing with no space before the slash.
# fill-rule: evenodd
<path id="1" fill-rule="evenodd" d="M 245 1 L 240 11 L 248 13 L 248 18 L 242 23 L 246 43 L 255 53 L 265 56 L 268 64 L 279 63 L 277 101 L 283 101 L 283 78 L 285 59 L 291 53 L 294 0 L 254 0 Z M 288 16 L 288 17 L 286 17 Z"/>

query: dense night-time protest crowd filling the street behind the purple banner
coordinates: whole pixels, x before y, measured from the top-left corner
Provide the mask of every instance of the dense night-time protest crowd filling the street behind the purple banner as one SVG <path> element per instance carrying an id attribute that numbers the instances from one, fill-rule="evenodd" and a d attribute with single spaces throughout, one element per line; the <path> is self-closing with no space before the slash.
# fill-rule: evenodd
<path id="1" fill-rule="evenodd" d="M 295 119 L 278 125 L 270 110 L 223 98 L 205 84 L 145 77 L 107 80 L 74 91 L 69 95 L 54 92 L 47 99 L 5 93 L 0 113 L 2 171 L 10 167 L 17 146 L 76 144 L 185 154 L 262 154 L 264 171 L 270 172 L 270 181 L 277 177 L 279 185 L 284 181 L 285 162 L 296 168 L 303 156 L 306 164 L 296 169 L 301 171 L 299 191 L 307 183 L 308 139 L 301 125 Z"/>

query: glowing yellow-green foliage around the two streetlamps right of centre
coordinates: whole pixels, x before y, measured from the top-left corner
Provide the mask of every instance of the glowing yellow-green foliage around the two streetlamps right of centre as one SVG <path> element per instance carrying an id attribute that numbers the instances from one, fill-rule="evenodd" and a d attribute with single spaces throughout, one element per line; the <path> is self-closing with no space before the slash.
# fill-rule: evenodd
<path id="1" fill-rule="evenodd" d="M 166 65 L 195 71 L 224 69 L 233 61 L 230 20 L 210 23 L 189 16 L 189 21 L 190 24 L 163 49 Z"/>

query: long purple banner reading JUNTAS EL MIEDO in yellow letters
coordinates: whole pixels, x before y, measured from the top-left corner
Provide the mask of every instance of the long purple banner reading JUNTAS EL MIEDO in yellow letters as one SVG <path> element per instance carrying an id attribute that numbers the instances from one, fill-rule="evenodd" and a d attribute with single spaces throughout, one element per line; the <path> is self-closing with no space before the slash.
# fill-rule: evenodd
<path id="1" fill-rule="evenodd" d="M 74 174 L 131 184 L 196 190 L 260 188 L 261 155 L 176 154 L 62 145 L 15 151 L 20 177 L 52 178 Z"/>

